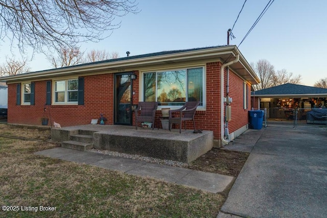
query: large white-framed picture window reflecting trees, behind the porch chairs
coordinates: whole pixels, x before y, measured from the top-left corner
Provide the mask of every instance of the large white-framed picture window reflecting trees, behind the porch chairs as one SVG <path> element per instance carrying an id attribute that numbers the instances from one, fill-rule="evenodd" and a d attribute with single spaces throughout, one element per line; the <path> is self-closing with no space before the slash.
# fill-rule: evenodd
<path id="1" fill-rule="evenodd" d="M 203 67 L 146 72 L 144 101 L 170 106 L 200 101 L 203 106 L 203 74 Z"/>

